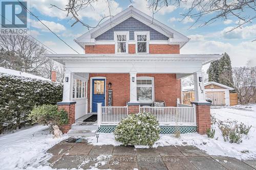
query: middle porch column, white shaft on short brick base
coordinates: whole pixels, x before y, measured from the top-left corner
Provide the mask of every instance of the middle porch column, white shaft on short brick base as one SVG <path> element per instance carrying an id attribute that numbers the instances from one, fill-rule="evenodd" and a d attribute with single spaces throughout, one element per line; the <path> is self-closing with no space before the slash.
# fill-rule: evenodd
<path id="1" fill-rule="evenodd" d="M 140 103 L 137 101 L 137 72 L 130 72 L 130 102 L 127 103 L 128 113 L 139 113 Z"/>

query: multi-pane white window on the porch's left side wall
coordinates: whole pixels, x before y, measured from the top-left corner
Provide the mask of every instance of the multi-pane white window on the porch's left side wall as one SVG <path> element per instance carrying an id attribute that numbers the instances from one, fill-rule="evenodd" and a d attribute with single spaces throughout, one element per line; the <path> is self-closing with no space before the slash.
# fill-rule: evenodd
<path id="1" fill-rule="evenodd" d="M 86 81 L 73 79 L 73 99 L 86 98 Z"/>

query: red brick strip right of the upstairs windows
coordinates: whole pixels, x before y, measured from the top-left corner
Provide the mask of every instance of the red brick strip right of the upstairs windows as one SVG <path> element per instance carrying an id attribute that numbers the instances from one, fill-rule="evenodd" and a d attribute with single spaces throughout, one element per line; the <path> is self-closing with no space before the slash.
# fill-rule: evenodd
<path id="1" fill-rule="evenodd" d="M 150 44 L 150 54 L 180 54 L 180 45 Z"/>

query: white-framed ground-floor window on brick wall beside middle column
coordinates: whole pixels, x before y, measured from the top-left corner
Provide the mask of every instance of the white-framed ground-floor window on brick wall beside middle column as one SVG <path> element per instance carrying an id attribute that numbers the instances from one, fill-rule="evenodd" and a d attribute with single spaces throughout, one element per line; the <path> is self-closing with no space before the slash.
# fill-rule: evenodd
<path id="1" fill-rule="evenodd" d="M 137 77 L 137 101 L 142 103 L 154 102 L 154 78 Z"/>

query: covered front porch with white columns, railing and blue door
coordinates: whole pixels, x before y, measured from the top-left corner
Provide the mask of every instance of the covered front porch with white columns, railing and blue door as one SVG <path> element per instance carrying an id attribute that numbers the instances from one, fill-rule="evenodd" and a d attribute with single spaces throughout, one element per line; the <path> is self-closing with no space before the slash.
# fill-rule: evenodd
<path id="1" fill-rule="evenodd" d="M 63 101 L 74 119 L 97 113 L 97 126 L 116 126 L 128 114 L 150 112 L 161 126 L 210 128 L 202 65 L 220 55 L 51 55 L 66 65 Z M 194 75 L 193 106 L 182 101 L 181 79 Z M 149 107 L 164 101 L 164 107 Z M 101 104 L 100 104 L 101 103 Z M 65 107 L 62 107 L 65 108 Z M 73 116 L 74 115 L 74 116 Z"/>

